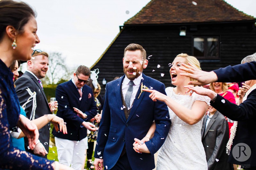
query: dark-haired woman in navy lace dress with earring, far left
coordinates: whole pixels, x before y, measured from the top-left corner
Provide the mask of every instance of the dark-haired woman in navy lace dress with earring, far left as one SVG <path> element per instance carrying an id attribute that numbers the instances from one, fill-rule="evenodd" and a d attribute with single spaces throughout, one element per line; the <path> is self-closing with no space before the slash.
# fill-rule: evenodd
<path id="1" fill-rule="evenodd" d="M 8 68 L 14 60 L 31 58 L 31 47 L 40 42 L 36 35 L 36 13 L 23 2 L 0 1 L 0 168 L 3 169 L 70 169 L 14 148 L 10 129 L 18 126 L 28 137 L 31 150 L 38 139 L 36 125 L 20 115 L 20 103 L 13 85 L 13 73 Z"/>

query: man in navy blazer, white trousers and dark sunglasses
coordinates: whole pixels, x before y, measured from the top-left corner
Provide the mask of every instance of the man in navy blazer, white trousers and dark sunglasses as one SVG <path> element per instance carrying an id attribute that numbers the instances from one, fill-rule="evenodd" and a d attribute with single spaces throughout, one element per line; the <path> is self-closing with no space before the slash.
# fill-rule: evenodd
<path id="1" fill-rule="evenodd" d="M 58 100 L 57 116 L 67 122 L 68 134 L 62 134 L 52 130 L 61 164 L 74 169 L 81 169 L 84 163 L 84 154 L 88 148 L 87 129 L 97 130 L 88 121 L 97 114 L 92 88 L 88 82 L 91 70 L 80 65 L 74 77 L 56 88 L 56 100 Z"/>

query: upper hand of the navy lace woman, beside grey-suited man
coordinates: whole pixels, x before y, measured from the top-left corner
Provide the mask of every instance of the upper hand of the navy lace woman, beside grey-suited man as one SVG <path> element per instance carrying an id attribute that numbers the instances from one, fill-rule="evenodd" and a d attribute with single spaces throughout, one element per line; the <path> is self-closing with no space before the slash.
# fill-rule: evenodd
<path id="1" fill-rule="evenodd" d="M 23 115 L 20 115 L 17 125 L 28 138 L 29 148 L 33 150 L 39 137 L 36 125 Z"/>

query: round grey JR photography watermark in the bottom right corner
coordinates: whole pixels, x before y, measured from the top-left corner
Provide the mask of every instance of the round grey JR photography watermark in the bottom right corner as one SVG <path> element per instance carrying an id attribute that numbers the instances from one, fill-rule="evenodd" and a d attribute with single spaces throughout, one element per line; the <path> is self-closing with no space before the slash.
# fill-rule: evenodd
<path id="1" fill-rule="evenodd" d="M 232 150 L 233 157 L 240 162 L 248 160 L 251 156 L 251 148 L 244 143 L 236 144 Z"/>

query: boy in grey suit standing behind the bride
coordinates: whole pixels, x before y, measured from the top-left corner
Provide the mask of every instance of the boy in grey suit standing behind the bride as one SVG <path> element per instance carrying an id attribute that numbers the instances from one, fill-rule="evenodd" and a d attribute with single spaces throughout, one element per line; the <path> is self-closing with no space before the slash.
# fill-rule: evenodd
<path id="1" fill-rule="evenodd" d="M 201 129 L 208 170 L 229 170 L 231 165 L 228 163 L 228 154 L 226 154 L 229 134 L 228 122 L 211 105 L 209 105 L 208 111 L 209 113 L 204 116 Z"/>

